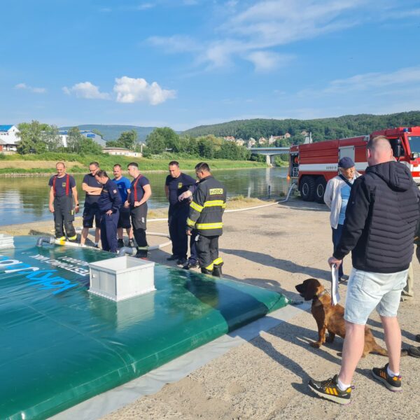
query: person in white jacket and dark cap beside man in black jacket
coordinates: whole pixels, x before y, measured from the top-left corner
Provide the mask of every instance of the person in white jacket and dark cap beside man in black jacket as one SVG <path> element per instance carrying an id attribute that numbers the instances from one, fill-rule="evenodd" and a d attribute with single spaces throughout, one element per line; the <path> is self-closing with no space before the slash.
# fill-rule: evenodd
<path id="1" fill-rule="evenodd" d="M 339 175 L 330 179 L 325 188 L 324 201 L 331 209 L 330 225 L 332 228 L 332 244 L 334 248 L 341 238 L 344 220 L 346 219 L 346 207 L 349 202 L 351 187 L 360 174 L 356 172 L 354 162 L 351 158 L 341 158 L 338 162 Z M 339 281 L 343 277 L 343 265 L 338 268 Z"/>

